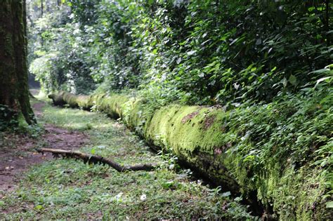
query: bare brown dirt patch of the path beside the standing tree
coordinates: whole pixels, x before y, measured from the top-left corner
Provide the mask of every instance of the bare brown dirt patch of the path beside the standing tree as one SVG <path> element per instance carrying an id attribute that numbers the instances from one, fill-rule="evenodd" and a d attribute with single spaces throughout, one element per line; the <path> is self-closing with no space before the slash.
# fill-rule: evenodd
<path id="1" fill-rule="evenodd" d="M 33 105 L 38 118 L 42 116 L 44 102 Z M 38 147 L 77 149 L 89 142 L 87 135 L 77 131 L 69 131 L 51 124 L 44 125 L 45 133 L 37 139 L 26 135 L 5 134 L 0 137 L 0 192 L 13 191 L 30 166 L 52 158 L 50 154 L 41 155 L 34 151 Z M 0 194 L 1 199 L 1 194 Z"/>

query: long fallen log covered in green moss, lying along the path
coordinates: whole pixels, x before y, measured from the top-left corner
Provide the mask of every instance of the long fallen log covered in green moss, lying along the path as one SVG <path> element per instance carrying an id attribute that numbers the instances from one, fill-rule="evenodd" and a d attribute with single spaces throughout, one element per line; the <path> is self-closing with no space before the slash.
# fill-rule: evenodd
<path id="1" fill-rule="evenodd" d="M 332 215 L 325 206 L 327 197 L 322 197 L 327 180 L 313 163 L 296 169 L 286 155 L 284 159 L 258 162 L 258 165 L 266 163 L 265 170 L 247 166 L 246 161 L 254 161 L 255 156 L 241 151 L 249 147 L 241 147 L 233 139 L 240 133 L 239 128 L 230 126 L 230 119 L 237 112 L 220 107 L 181 105 L 168 105 L 152 112 L 142 100 L 126 95 L 77 96 L 62 92 L 49 97 L 55 104 L 83 109 L 93 107 L 112 117 L 122 117 L 129 128 L 136 130 L 152 146 L 176 154 L 223 189 L 241 193 L 251 203 L 259 201 L 265 212 L 273 213 L 273 217 L 325 220 Z M 249 110 L 240 114 L 246 112 Z M 273 156 L 278 148 L 285 148 L 283 142 L 272 147 L 268 156 Z"/>

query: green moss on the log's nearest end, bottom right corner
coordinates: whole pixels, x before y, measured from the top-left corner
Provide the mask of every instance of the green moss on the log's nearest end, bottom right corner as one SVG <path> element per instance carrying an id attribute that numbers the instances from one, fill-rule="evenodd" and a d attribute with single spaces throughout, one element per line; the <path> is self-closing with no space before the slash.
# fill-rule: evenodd
<path id="1" fill-rule="evenodd" d="M 282 220 L 328 220 L 325 209 L 325 176 L 320 168 L 303 166 L 294 170 L 288 166 L 282 177 L 275 175 L 268 179 L 267 189 L 259 186 L 259 194 L 273 199 L 273 208 L 279 211 Z M 264 185 L 263 185 L 264 186 Z M 262 186 L 262 187 L 263 187 Z M 263 193 L 266 190 L 267 193 Z"/>

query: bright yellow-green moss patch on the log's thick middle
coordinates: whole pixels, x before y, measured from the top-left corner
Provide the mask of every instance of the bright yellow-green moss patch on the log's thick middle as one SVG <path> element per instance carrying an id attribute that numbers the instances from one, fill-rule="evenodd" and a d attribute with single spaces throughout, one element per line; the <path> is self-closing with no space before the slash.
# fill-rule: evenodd
<path id="1" fill-rule="evenodd" d="M 148 126 L 147 135 L 157 144 L 172 147 L 186 157 L 193 152 L 221 154 L 228 147 L 223 134 L 225 112 L 207 107 L 171 105 L 157 110 Z"/>

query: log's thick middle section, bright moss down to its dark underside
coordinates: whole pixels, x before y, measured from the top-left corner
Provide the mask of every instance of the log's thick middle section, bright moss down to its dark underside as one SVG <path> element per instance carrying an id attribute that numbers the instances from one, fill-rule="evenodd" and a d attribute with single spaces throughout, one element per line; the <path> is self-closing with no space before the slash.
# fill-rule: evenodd
<path id="1" fill-rule="evenodd" d="M 237 193 L 237 183 L 219 161 L 228 157 L 224 153 L 227 141 L 221 133 L 225 114 L 207 107 L 166 106 L 155 112 L 146 138 Z"/>

